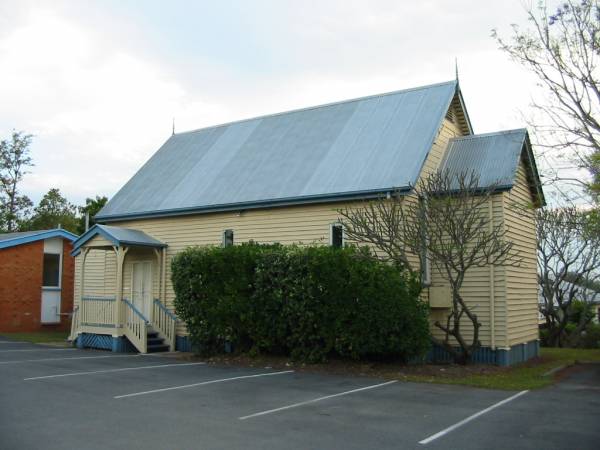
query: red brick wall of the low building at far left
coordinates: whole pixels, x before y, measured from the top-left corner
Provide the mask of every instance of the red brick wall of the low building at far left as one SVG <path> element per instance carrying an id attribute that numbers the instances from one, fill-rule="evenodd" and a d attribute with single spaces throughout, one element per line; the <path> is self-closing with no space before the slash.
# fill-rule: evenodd
<path id="1" fill-rule="evenodd" d="M 61 312 L 73 309 L 74 260 L 71 243 L 64 242 Z M 40 323 L 44 241 L 0 250 L 0 333 L 68 329 L 68 316 L 60 324 Z"/>

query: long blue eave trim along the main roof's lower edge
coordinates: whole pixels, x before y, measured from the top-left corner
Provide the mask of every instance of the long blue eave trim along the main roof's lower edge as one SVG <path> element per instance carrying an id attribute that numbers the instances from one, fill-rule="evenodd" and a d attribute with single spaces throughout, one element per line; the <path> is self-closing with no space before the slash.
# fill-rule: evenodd
<path id="1" fill-rule="evenodd" d="M 229 203 L 222 205 L 211 205 L 202 207 L 190 207 L 190 208 L 174 208 L 164 209 L 157 211 L 146 211 L 136 212 L 128 214 L 118 215 L 97 215 L 96 220 L 102 222 L 112 222 L 122 219 L 141 219 L 146 217 L 169 217 L 169 216 L 183 216 L 189 214 L 205 214 L 212 212 L 223 212 L 223 211 L 239 211 L 246 209 L 261 209 L 278 206 L 294 206 L 304 205 L 313 203 L 328 203 L 328 202 L 341 202 L 345 200 L 362 200 L 379 198 L 388 192 L 400 191 L 402 193 L 408 193 L 411 191 L 410 186 L 405 187 L 389 187 L 385 189 L 377 189 L 372 191 L 355 191 L 355 192 L 343 192 L 339 194 L 324 194 L 324 195 L 313 195 L 303 197 L 288 197 L 284 199 L 270 199 L 260 200 L 254 202 L 241 202 L 241 203 Z"/>

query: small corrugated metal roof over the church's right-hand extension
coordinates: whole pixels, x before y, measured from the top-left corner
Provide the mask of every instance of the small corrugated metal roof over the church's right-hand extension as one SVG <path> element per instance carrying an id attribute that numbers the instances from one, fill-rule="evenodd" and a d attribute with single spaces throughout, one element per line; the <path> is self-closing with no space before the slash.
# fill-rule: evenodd
<path id="1" fill-rule="evenodd" d="M 473 172 L 482 188 L 511 188 L 526 137 L 527 130 L 518 129 L 453 138 L 440 170 L 454 175 Z"/>

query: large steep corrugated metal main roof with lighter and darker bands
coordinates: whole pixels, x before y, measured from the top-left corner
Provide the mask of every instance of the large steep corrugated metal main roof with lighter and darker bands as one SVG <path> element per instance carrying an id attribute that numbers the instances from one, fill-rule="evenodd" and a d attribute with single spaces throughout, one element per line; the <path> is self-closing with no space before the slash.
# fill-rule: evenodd
<path id="1" fill-rule="evenodd" d="M 97 218 L 408 188 L 456 91 L 451 81 L 175 134 Z"/>

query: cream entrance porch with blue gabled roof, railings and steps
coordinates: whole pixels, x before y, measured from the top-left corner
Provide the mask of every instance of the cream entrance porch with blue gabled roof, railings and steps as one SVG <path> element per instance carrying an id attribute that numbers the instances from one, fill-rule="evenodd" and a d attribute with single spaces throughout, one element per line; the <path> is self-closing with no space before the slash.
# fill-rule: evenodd
<path id="1" fill-rule="evenodd" d="M 71 340 L 77 346 L 175 350 L 177 317 L 161 301 L 166 247 L 142 231 L 106 225 L 94 225 L 75 241 L 79 295 Z"/>

